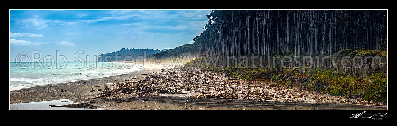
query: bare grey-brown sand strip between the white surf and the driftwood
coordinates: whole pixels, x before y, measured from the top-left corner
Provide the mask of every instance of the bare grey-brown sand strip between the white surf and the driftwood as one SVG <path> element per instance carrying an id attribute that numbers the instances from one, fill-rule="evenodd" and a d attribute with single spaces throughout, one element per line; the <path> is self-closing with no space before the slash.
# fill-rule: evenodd
<path id="1" fill-rule="evenodd" d="M 104 85 L 106 85 L 106 83 L 119 83 L 120 81 L 139 81 L 145 76 L 141 75 L 141 73 L 146 74 L 161 71 L 161 69 L 156 68 L 156 66 L 158 65 L 164 66 L 164 68 L 170 67 L 170 65 L 166 63 L 148 62 L 147 64 L 150 64 L 149 66 L 151 67 L 131 71 L 129 73 L 123 73 L 121 75 L 112 75 L 108 77 L 98 77 L 93 79 L 85 79 L 64 83 L 53 83 L 48 85 L 22 88 L 19 90 L 10 90 L 10 104 L 42 102 L 58 99 L 70 99 L 72 101 L 76 101 L 82 96 L 99 94 L 100 91 L 98 89 L 104 90 L 103 87 Z M 91 88 L 96 91 L 89 92 Z M 61 90 L 65 90 L 67 92 L 62 92 Z"/>

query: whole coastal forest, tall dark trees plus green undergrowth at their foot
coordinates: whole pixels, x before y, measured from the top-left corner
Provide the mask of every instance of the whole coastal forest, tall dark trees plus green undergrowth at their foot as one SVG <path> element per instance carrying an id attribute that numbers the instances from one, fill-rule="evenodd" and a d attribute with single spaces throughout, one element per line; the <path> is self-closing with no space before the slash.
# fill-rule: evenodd
<path id="1" fill-rule="evenodd" d="M 387 10 L 213 10 L 206 17 L 208 23 L 193 38 L 195 43 L 154 56 L 189 56 L 194 58 L 185 67 L 231 78 L 269 79 L 335 96 L 387 102 Z M 258 56 L 265 62 L 249 59 L 230 65 L 228 56 L 236 56 L 234 62 L 242 56 Z M 324 62 L 332 67 L 304 60 L 270 63 L 275 68 L 255 67 L 285 56 L 319 56 L 320 61 L 330 56 Z M 364 60 L 353 60 L 355 56 Z M 219 62 L 201 62 L 208 59 Z M 337 66 L 341 63 L 349 67 Z M 362 63 L 365 67 L 353 67 Z"/>

